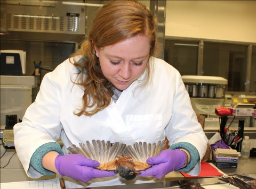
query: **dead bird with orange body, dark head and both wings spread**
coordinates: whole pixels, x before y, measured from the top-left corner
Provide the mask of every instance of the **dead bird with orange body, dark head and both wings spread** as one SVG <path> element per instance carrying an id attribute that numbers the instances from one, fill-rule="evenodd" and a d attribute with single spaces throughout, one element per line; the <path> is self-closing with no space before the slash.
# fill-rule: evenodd
<path id="1" fill-rule="evenodd" d="M 166 140 L 157 143 L 135 142 L 133 145 L 115 142 L 111 145 L 110 141 L 92 140 L 92 143 L 86 141 L 86 144 L 79 143 L 68 147 L 70 153 L 82 154 L 84 157 L 97 160 L 100 166 L 96 169 L 114 170 L 127 181 L 131 181 L 139 171 L 146 170 L 152 165 L 147 164 L 147 159 L 158 156 L 163 151 Z"/>

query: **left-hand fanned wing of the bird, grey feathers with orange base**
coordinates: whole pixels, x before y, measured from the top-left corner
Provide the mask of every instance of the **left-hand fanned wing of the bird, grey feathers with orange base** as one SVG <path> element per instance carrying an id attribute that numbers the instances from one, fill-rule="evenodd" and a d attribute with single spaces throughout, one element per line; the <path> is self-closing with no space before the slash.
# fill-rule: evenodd
<path id="1" fill-rule="evenodd" d="M 80 147 L 80 148 L 79 148 Z M 81 154 L 82 156 L 97 160 L 101 170 L 115 170 L 116 157 L 124 153 L 126 144 L 115 142 L 111 146 L 110 141 L 92 140 L 92 143 L 86 141 L 86 144 L 79 143 L 79 147 L 73 144 L 73 147 L 68 147 L 70 153 Z"/>

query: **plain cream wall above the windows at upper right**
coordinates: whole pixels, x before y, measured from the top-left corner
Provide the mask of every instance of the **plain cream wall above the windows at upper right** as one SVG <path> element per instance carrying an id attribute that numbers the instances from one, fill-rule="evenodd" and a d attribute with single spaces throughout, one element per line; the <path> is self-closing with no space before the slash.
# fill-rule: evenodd
<path id="1" fill-rule="evenodd" d="M 166 1 L 165 36 L 256 42 L 256 1 Z"/>

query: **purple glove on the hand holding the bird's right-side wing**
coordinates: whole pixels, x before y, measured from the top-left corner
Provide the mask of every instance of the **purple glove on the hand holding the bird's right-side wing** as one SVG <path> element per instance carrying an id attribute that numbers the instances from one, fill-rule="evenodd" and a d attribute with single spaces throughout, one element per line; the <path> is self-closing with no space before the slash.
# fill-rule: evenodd
<path id="1" fill-rule="evenodd" d="M 162 178 L 173 170 L 180 169 L 186 162 L 186 154 L 179 149 L 163 150 L 158 156 L 147 159 L 148 164 L 153 164 L 147 170 L 140 171 L 142 177 L 154 176 Z"/>

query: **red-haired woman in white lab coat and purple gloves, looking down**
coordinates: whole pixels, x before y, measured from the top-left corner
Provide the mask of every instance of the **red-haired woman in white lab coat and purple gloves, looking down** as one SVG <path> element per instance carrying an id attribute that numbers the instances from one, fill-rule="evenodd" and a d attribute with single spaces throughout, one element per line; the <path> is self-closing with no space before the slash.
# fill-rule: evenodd
<path id="1" fill-rule="evenodd" d="M 14 126 L 15 148 L 29 177 L 58 173 L 67 188 L 163 181 L 173 170 L 197 175 L 207 139 L 175 68 L 154 58 L 156 19 L 137 1 L 99 8 L 81 49 L 45 75 L 35 102 Z M 61 149 L 55 141 L 63 142 Z M 132 181 L 99 162 L 69 154 L 92 140 L 154 143 L 170 149 Z"/>

